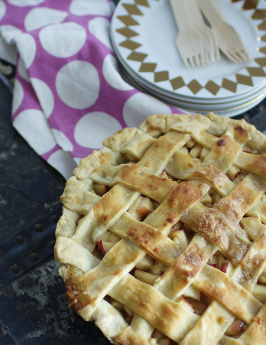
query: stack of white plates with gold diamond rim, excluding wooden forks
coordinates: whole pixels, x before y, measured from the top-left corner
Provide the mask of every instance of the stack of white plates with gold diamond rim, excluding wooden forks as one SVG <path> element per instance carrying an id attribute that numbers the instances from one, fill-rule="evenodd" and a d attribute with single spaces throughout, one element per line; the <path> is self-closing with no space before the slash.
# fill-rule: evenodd
<path id="1" fill-rule="evenodd" d="M 111 22 L 118 60 L 139 87 L 192 112 L 245 112 L 266 97 L 266 1 L 218 0 L 241 35 L 251 60 L 221 60 L 187 68 L 176 47 L 177 26 L 168 0 L 120 0 Z"/>

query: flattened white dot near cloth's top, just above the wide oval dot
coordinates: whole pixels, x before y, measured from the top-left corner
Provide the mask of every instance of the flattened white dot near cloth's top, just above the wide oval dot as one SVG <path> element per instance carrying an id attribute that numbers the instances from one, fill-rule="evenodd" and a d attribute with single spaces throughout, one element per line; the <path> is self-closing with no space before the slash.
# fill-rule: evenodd
<path id="1" fill-rule="evenodd" d="M 26 31 L 42 28 L 48 24 L 60 23 L 68 16 L 67 12 L 48 7 L 33 8 L 25 17 Z"/>

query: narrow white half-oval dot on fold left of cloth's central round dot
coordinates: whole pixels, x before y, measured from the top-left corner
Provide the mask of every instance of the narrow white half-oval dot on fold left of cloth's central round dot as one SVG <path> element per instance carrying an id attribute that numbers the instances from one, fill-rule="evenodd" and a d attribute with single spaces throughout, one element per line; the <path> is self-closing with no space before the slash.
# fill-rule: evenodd
<path id="1" fill-rule="evenodd" d="M 30 82 L 39 99 L 44 115 L 48 118 L 55 105 L 53 93 L 49 86 L 41 79 L 30 78 Z"/>

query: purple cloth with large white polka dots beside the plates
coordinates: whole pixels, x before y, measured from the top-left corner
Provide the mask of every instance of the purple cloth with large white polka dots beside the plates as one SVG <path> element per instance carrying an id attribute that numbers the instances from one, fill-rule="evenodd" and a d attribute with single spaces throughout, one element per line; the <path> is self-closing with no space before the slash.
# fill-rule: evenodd
<path id="1" fill-rule="evenodd" d="M 16 63 L 13 125 L 66 179 L 109 135 L 177 112 L 121 78 L 113 10 L 111 0 L 0 0 L 0 58 Z"/>

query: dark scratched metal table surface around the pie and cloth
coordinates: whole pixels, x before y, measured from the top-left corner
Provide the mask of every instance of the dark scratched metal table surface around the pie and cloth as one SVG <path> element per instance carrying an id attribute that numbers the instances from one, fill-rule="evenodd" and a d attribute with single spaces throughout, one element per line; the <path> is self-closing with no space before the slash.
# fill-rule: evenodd
<path id="1" fill-rule="evenodd" d="M 11 104 L 0 80 L 0 345 L 108 345 L 65 301 L 53 256 L 65 180 L 15 131 Z M 241 117 L 266 132 L 266 100 Z"/>

